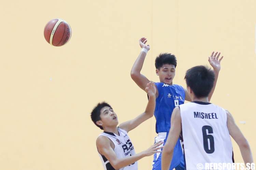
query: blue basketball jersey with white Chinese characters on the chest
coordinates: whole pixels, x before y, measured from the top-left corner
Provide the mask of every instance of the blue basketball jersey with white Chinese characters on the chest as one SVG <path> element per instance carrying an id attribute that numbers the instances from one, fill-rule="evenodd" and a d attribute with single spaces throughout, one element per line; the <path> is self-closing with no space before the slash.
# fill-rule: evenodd
<path id="1" fill-rule="evenodd" d="M 172 111 L 176 106 L 184 104 L 185 91 L 182 86 L 176 84 L 155 84 L 158 90 L 154 113 L 156 118 L 156 133 L 169 132 Z"/>

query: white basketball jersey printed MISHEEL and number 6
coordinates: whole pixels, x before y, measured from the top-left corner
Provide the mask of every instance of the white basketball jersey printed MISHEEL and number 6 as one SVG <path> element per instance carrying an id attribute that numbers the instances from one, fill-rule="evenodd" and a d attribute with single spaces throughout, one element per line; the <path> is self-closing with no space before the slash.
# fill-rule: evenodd
<path id="1" fill-rule="evenodd" d="M 198 164 L 233 163 L 226 111 L 214 104 L 190 102 L 180 105 L 183 148 L 187 170 Z"/>

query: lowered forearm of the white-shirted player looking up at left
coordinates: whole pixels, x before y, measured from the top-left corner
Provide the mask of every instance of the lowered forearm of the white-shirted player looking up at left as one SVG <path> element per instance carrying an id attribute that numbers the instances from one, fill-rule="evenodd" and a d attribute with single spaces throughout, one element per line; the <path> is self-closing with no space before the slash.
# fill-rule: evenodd
<path id="1" fill-rule="evenodd" d="M 115 163 L 115 165 L 113 165 L 113 167 L 115 169 L 121 169 L 123 167 L 129 166 L 133 163 L 135 163 L 136 161 L 140 160 L 141 158 L 145 157 L 146 155 L 144 154 L 144 152 L 140 152 L 136 155 L 132 155 L 126 158 L 122 158 L 122 159 L 118 159 L 117 162 Z"/>

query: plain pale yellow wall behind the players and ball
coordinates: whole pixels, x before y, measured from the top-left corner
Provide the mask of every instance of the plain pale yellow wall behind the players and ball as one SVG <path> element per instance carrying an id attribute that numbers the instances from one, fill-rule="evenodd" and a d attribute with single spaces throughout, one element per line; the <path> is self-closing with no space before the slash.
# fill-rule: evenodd
<path id="1" fill-rule="evenodd" d="M 95 140 L 101 130 L 89 113 L 108 101 L 119 122 L 145 109 L 147 98 L 130 78 L 140 52 L 151 45 L 142 73 L 153 81 L 160 52 L 177 56 L 174 83 L 185 71 L 208 65 L 212 51 L 224 55 L 212 98 L 227 108 L 255 157 L 256 1 L 1 1 L 1 170 L 102 169 Z M 73 34 L 63 47 L 43 37 L 45 24 L 63 18 Z M 239 121 L 246 121 L 245 124 Z M 153 142 L 155 120 L 130 132 L 137 152 Z M 242 162 L 233 143 L 236 162 Z M 151 168 L 153 157 L 139 161 Z"/>

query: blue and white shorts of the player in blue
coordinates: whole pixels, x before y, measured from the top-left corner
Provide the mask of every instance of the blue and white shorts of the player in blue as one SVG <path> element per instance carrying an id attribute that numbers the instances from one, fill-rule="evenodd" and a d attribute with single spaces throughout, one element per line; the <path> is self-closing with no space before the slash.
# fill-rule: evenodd
<path id="1" fill-rule="evenodd" d="M 167 140 L 167 135 L 168 135 L 167 132 L 158 133 L 158 136 L 155 138 L 155 143 L 160 140 L 163 140 L 163 145 L 165 145 Z M 154 154 L 152 170 L 161 170 L 161 157 L 162 157 L 162 153 Z M 180 139 L 177 141 L 173 151 L 173 158 L 172 158 L 170 170 L 172 170 L 173 168 L 175 168 L 175 170 L 185 170 L 184 156 L 181 149 Z"/>

